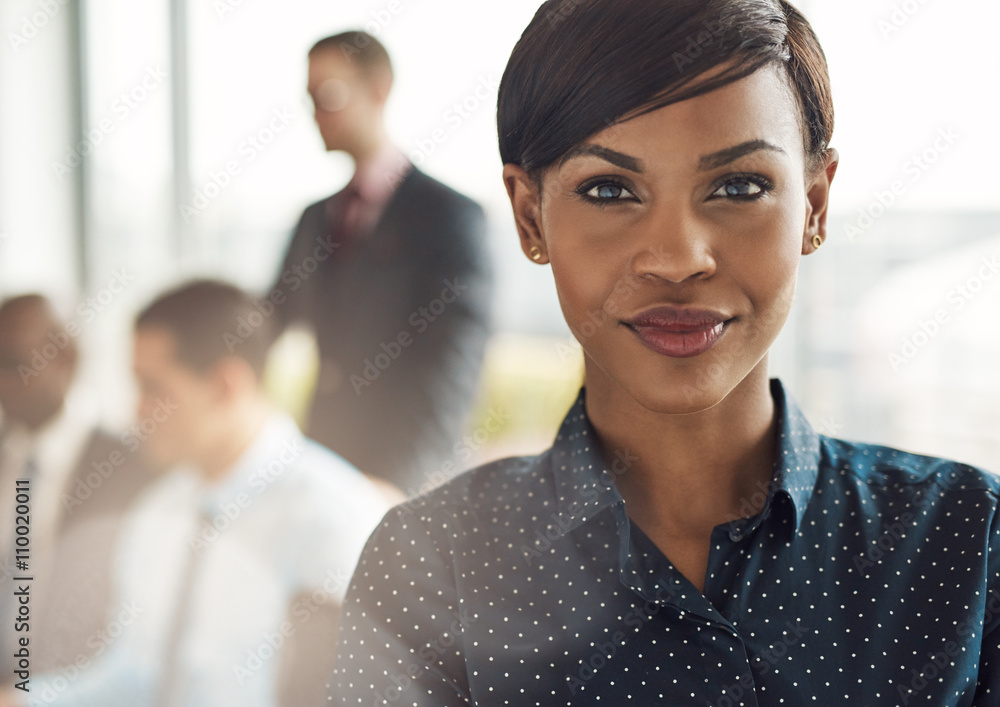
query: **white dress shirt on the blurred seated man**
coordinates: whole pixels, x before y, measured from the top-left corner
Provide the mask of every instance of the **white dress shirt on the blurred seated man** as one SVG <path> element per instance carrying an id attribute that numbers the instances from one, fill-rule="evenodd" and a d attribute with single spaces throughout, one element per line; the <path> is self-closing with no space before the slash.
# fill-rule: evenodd
<path id="1" fill-rule="evenodd" d="M 275 413 L 218 483 L 178 469 L 143 493 L 122 533 L 118 597 L 96 658 L 32 676 L 29 704 L 155 704 L 180 621 L 172 706 L 273 706 L 280 647 L 315 612 L 295 597 L 339 604 L 386 510 L 363 474 Z"/>

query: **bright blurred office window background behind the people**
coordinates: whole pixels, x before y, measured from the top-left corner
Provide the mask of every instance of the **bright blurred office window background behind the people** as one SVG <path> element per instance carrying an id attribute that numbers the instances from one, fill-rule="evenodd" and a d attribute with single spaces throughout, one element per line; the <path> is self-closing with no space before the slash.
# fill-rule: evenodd
<path id="1" fill-rule="evenodd" d="M 350 177 L 323 151 L 305 57 L 360 27 L 395 63 L 397 144 L 491 220 L 497 334 L 472 446 L 480 460 L 546 447 L 582 360 L 550 273 L 517 246 L 494 122 L 538 5 L 4 0 L 0 297 L 55 297 L 82 328 L 105 418 L 127 422 L 134 312 L 194 275 L 263 293 L 302 208 Z M 831 237 L 803 263 L 773 375 L 822 432 L 1000 471 L 1000 5 L 798 5 L 830 61 L 842 164 Z M 270 389 L 301 412 L 308 337 L 286 337 L 273 363 Z"/>

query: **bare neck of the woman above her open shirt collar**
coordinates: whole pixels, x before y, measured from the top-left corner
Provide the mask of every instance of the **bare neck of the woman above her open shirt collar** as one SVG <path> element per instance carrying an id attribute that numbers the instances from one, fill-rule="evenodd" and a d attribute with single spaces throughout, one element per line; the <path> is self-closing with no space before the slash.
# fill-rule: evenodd
<path id="1" fill-rule="evenodd" d="M 716 525 L 760 510 L 777 444 L 766 358 L 720 403 L 685 415 L 647 410 L 601 373 L 588 370 L 586 386 L 605 459 L 632 460 L 615 484 L 647 533 L 707 541 Z"/>

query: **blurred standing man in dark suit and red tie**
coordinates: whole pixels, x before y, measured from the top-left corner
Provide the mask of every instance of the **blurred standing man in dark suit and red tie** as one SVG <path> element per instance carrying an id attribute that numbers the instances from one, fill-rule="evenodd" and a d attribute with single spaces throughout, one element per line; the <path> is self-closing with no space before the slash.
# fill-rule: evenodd
<path id="1" fill-rule="evenodd" d="M 283 323 L 315 331 L 309 435 L 415 492 L 461 440 L 489 334 L 492 268 L 473 201 L 409 163 L 386 136 L 393 71 L 363 32 L 309 52 L 309 94 L 347 186 L 302 214 L 275 284 Z"/>

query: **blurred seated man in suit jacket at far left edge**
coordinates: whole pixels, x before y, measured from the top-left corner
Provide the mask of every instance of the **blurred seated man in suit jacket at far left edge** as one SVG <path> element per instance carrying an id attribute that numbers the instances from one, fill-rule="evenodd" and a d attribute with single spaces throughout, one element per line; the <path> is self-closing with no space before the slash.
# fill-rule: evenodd
<path id="1" fill-rule="evenodd" d="M 150 474 L 137 444 L 97 426 L 74 385 L 80 328 L 41 295 L 0 303 L 0 665 L 17 680 L 15 576 L 30 576 L 32 670 L 86 661 L 100 648 L 111 561 L 126 508 Z M 18 482 L 22 485 L 18 486 Z M 16 494 L 27 546 L 15 556 Z M 24 521 L 22 520 L 22 523 Z M 18 566 L 17 559 L 24 562 Z"/>

